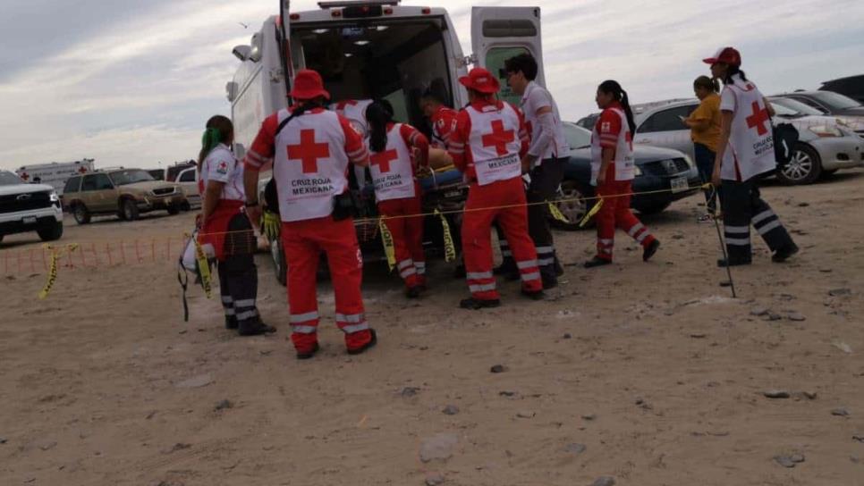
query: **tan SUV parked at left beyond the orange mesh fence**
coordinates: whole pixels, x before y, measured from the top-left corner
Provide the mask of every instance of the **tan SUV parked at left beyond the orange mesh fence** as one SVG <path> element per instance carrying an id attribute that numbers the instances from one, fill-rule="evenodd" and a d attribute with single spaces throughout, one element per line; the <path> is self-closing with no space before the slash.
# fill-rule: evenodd
<path id="1" fill-rule="evenodd" d="M 140 169 L 102 170 L 73 176 L 66 181 L 63 202 L 79 224 L 86 224 L 91 216 L 99 214 L 117 214 L 126 221 L 157 210 L 177 214 L 188 204 L 179 184 L 155 180 Z"/>

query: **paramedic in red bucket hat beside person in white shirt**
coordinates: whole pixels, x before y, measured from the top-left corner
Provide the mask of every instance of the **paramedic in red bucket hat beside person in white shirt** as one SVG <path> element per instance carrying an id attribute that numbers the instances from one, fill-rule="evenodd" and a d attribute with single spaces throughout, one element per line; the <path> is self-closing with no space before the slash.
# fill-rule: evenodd
<path id="1" fill-rule="evenodd" d="M 521 113 L 496 99 L 498 80 L 483 68 L 459 79 L 468 88 L 470 105 L 456 118 L 450 136 L 453 163 L 470 183 L 462 220 L 471 297 L 460 306 L 468 309 L 500 305 L 492 273 L 492 222 L 496 221 L 512 249 L 527 297 L 543 297 L 537 252 L 528 235 L 528 210 L 522 188 L 521 157 L 528 152 L 528 131 Z M 484 209 L 488 208 L 488 209 Z"/>

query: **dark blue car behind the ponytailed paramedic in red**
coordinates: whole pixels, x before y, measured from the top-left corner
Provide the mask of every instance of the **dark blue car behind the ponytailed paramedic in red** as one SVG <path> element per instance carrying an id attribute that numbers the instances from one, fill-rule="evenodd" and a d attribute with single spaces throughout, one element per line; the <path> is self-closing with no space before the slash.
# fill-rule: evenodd
<path id="1" fill-rule="evenodd" d="M 570 160 L 564 168 L 564 178 L 556 205 L 569 223 L 555 222 L 563 230 L 576 230 L 594 201 L 591 186 L 591 132 L 576 123 L 564 121 L 564 133 L 571 147 Z M 636 178 L 633 192 L 645 192 L 632 197 L 631 207 L 641 214 L 660 213 L 674 201 L 699 192 L 702 184 L 699 172 L 688 155 L 669 148 L 634 144 Z"/>

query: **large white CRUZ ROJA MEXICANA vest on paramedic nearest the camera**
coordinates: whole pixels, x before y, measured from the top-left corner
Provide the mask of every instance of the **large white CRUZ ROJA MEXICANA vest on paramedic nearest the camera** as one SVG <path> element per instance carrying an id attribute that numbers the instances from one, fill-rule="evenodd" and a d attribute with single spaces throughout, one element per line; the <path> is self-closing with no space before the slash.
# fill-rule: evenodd
<path id="1" fill-rule="evenodd" d="M 291 113 L 279 111 L 282 123 Z M 275 139 L 273 177 L 282 221 L 323 218 L 333 213 L 333 198 L 348 188 L 345 133 L 333 112 L 294 118 Z"/>

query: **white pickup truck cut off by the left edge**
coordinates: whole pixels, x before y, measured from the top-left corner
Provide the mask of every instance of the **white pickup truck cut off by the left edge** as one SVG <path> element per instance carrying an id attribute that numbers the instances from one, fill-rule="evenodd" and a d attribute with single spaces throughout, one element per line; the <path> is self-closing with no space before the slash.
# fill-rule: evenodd
<path id="1" fill-rule="evenodd" d="M 13 172 L 0 171 L 0 241 L 29 231 L 43 241 L 63 236 L 60 197 L 48 184 L 29 184 Z"/>

